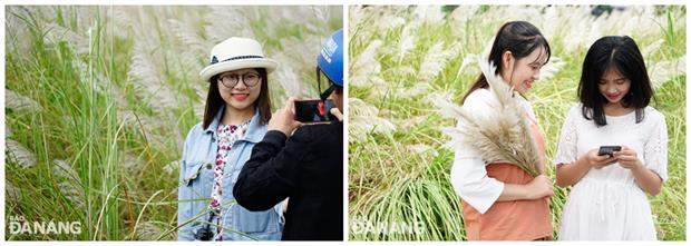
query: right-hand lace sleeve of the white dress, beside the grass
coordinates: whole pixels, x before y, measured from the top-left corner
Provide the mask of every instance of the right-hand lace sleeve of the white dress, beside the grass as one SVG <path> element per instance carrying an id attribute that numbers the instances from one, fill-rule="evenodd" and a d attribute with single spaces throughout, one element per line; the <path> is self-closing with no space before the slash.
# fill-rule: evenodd
<path id="1" fill-rule="evenodd" d="M 653 170 L 655 174 L 660 176 L 662 181 L 668 179 L 666 174 L 666 122 L 664 120 L 664 115 L 655 111 L 656 114 L 649 114 L 645 117 L 655 116 L 656 124 L 652 128 L 652 132 L 650 138 L 645 142 L 643 161 L 645 163 L 645 167 Z"/>

